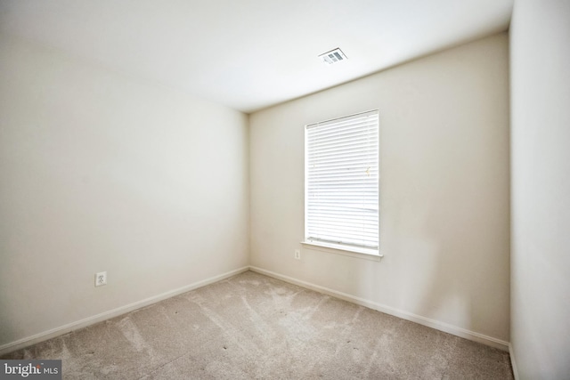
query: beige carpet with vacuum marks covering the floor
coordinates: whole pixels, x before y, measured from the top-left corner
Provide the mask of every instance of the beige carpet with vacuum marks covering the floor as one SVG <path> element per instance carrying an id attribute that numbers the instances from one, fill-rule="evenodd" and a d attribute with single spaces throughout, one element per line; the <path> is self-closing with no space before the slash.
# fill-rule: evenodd
<path id="1" fill-rule="evenodd" d="M 248 271 L 4 355 L 67 379 L 512 379 L 509 354 Z"/>

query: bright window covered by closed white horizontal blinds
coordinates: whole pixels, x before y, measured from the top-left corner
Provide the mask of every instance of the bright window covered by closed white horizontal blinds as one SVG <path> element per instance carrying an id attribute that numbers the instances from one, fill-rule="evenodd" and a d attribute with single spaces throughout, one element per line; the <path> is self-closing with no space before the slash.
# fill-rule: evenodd
<path id="1" fill-rule="evenodd" d="M 305 126 L 305 243 L 379 255 L 379 112 Z"/>

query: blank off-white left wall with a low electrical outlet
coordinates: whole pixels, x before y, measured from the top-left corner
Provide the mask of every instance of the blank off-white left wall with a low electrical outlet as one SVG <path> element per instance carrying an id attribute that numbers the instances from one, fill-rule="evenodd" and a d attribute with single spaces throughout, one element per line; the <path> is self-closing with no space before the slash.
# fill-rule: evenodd
<path id="1" fill-rule="evenodd" d="M 10 36 L 0 83 L 0 346 L 248 264 L 247 115 Z"/>

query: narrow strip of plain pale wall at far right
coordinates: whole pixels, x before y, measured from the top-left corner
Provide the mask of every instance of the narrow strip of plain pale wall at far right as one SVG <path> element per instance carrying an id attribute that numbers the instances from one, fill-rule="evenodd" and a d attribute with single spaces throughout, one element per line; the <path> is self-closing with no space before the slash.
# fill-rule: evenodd
<path id="1" fill-rule="evenodd" d="M 515 2 L 511 344 L 518 378 L 570 378 L 570 2 Z"/>

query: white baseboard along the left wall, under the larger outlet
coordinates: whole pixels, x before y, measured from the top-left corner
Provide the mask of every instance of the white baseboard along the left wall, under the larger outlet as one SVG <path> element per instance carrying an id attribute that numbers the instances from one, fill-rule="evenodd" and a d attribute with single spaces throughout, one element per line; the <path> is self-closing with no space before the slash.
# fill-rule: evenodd
<path id="1" fill-rule="evenodd" d="M 103 320 L 106 320 L 106 319 L 118 317 L 119 315 L 125 314 L 126 312 L 134 311 L 136 309 L 140 309 L 140 308 L 142 308 L 144 306 L 148 306 L 152 303 L 158 303 L 159 301 L 165 300 L 165 299 L 173 297 L 175 295 L 181 295 L 185 292 L 189 292 L 189 291 L 194 290 L 198 287 L 204 287 L 204 286 L 212 284 L 216 281 L 220 281 L 222 279 L 227 279 L 229 277 L 232 277 L 236 274 L 239 274 L 241 272 L 248 271 L 248 270 L 249 270 L 249 267 L 246 266 L 246 267 L 234 270 L 234 271 L 228 271 L 228 272 L 225 272 L 225 273 L 220 274 L 218 276 L 210 277 L 209 279 L 203 279 L 201 281 L 194 282 L 190 285 L 186 285 L 184 287 L 179 287 L 177 289 L 170 290 L 170 291 L 163 293 L 161 295 L 154 295 L 152 297 L 145 298 L 141 301 L 137 301 L 135 303 L 129 303 L 129 304 L 126 304 L 125 306 L 118 307 L 117 309 L 102 312 L 101 314 L 94 315 L 93 317 L 80 319 L 80 320 L 77 320 L 75 322 L 71 322 L 65 326 L 55 327 L 55 328 L 52 328 L 51 330 L 41 332 L 41 333 L 36 334 L 34 336 L 28 336 L 28 337 L 22 338 L 20 340 L 17 340 L 15 342 L 11 342 L 9 344 L 3 344 L 0 346 L 0 355 L 4 355 L 5 353 L 12 352 L 12 351 L 20 350 L 20 348 L 27 347 L 28 345 L 31 345 L 31 344 L 37 344 L 37 343 L 43 342 L 43 341 L 45 341 L 47 339 L 51 339 L 55 336 L 61 336 L 63 334 L 67 334 L 67 333 L 69 333 L 69 331 L 77 330 L 78 328 L 87 327 L 87 326 L 93 325 L 95 323 L 102 322 Z"/>

